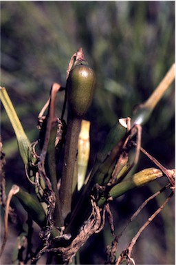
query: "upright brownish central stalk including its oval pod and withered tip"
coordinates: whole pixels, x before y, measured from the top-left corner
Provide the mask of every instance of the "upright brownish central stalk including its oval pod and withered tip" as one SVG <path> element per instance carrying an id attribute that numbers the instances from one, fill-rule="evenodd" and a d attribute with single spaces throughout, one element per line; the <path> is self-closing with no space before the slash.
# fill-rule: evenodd
<path id="1" fill-rule="evenodd" d="M 74 169 L 78 150 L 78 136 L 81 120 L 91 105 L 94 92 L 95 74 L 88 67 L 80 49 L 76 54 L 76 61 L 67 78 L 67 135 L 65 156 L 63 162 L 63 176 L 61 180 L 61 211 L 63 219 L 71 212 L 72 190 L 74 186 Z M 76 176 L 76 178 L 78 178 Z"/>

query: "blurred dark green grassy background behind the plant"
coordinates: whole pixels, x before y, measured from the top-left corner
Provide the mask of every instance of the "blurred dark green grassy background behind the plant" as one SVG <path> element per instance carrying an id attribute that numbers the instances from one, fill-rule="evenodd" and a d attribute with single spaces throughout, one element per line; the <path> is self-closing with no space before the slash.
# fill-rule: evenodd
<path id="1" fill-rule="evenodd" d="M 1 86 L 7 89 L 31 141 L 39 137 L 36 117 L 52 83 L 65 85 L 69 59 L 79 47 L 97 76 L 94 100 L 85 117 L 91 121 L 91 167 L 112 125 L 118 118 L 131 116 L 133 107 L 150 96 L 174 63 L 175 1 L 1 1 Z M 63 98 L 60 92 L 58 117 Z M 25 187 L 23 164 L 3 107 L 1 135 L 7 188 L 12 182 Z M 144 126 L 142 146 L 165 167 L 175 167 L 174 83 Z M 145 167 L 153 164 L 141 156 L 136 171 Z M 164 183 L 153 182 L 113 202 L 116 233 Z M 149 204 L 130 226 L 119 253 L 165 196 Z M 105 246 L 111 240 L 107 226 L 83 247 L 81 263 L 103 264 Z M 133 255 L 137 264 L 174 264 L 174 200 L 142 233 Z"/>

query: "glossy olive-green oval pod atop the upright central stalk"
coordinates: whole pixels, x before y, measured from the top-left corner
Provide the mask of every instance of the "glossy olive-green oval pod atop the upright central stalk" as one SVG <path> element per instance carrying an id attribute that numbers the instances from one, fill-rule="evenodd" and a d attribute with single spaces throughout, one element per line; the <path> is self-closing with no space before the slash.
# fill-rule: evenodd
<path id="1" fill-rule="evenodd" d="M 76 65 L 67 79 L 69 113 L 82 117 L 91 105 L 96 76 L 87 65 Z"/>

